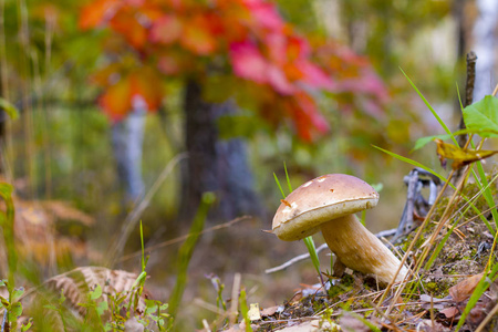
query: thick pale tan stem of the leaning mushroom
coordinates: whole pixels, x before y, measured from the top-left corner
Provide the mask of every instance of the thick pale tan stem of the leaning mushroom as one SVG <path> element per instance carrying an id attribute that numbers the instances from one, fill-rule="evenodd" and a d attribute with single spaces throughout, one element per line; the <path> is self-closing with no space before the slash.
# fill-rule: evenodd
<path id="1" fill-rule="evenodd" d="M 330 250 L 344 266 L 375 274 L 383 283 L 393 280 L 401 261 L 356 219 L 356 216 L 347 215 L 323 222 L 321 230 Z M 406 267 L 403 267 L 396 282 L 403 281 L 407 272 Z"/>

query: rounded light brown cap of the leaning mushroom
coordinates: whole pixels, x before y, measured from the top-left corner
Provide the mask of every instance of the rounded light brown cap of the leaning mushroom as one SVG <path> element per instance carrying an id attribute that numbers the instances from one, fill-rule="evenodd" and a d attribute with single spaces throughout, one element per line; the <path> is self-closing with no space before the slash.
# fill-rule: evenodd
<path id="1" fill-rule="evenodd" d="M 377 205 L 367 183 L 345 174 L 317 177 L 289 194 L 273 217 L 273 232 L 284 241 L 303 239 L 320 225 Z"/>

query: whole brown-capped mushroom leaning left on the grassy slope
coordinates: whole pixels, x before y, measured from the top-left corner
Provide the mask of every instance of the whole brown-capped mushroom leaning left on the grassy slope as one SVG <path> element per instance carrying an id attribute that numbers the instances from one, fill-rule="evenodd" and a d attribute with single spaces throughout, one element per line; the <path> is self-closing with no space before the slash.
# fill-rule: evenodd
<path id="1" fill-rule="evenodd" d="M 323 175 L 282 199 L 273 217 L 273 232 L 281 240 L 295 241 L 321 230 L 340 262 L 388 283 L 401 261 L 354 215 L 375 207 L 377 201 L 374 188 L 354 176 Z M 395 282 L 403 281 L 406 273 L 403 266 Z"/>

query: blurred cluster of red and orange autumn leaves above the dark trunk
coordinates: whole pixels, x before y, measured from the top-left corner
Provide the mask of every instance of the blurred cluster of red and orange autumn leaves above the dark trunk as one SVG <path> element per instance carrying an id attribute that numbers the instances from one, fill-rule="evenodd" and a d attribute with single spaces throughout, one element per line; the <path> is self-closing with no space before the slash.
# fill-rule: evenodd
<path id="1" fill-rule="evenodd" d="M 129 112 L 137 94 L 149 111 L 157 108 L 165 79 L 196 77 L 203 83 L 216 68 L 241 80 L 241 90 L 249 89 L 253 111 L 272 122 L 289 118 L 301 138 L 309 141 L 313 132 L 329 128 L 313 95 L 334 91 L 336 84 L 312 62 L 308 40 L 270 2 L 95 0 L 83 8 L 80 27 L 110 29 L 124 41 L 122 50 L 113 50 L 117 56 L 134 56 L 133 65 L 116 66 L 123 61 L 114 61 L 113 71 L 103 70 L 107 77 L 100 75 L 101 106 L 116 121 Z"/>

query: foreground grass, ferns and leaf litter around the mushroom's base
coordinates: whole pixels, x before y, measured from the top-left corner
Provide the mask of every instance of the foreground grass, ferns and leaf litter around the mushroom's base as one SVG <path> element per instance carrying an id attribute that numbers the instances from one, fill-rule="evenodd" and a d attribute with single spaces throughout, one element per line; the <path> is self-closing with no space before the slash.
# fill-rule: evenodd
<path id="1" fill-rule="evenodd" d="M 408 79 L 409 80 L 409 79 Z M 411 81 L 409 81 L 411 82 Z M 411 82 L 412 83 L 412 82 Z M 413 84 L 413 83 L 412 83 Z M 414 89 L 419 93 L 416 86 Z M 496 94 L 496 91 L 495 93 Z M 234 271 L 231 290 L 216 276 L 210 282 L 216 292 L 212 314 L 201 319 L 203 331 L 494 331 L 497 330 L 498 263 L 496 261 L 496 208 L 498 173 L 485 163 L 497 151 L 485 151 L 485 139 L 498 136 L 498 101 L 487 96 L 463 108 L 465 128 L 452 131 L 419 93 L 427 107 L 446 131 L 445 135 L 424 137 L 421 148 L 430 142 L 448 176 L 422 163 L 380 151 L 413 165 L 411 173 L 419 187 L 430 188 L 430 198 L 422 191 L 407 199 L 408 226 L 385 242 L 409 268 L 401 283 L 380 284 L 372 276 L 346 271 L 334 277 L 332 268 L 315 264 L 326 282 L 302 287 L 280 304 L 259 308 L 248 301 L 241 274 Z M 460 146 L 457 136 L 465 135 Z M 444 141 L 452 141 L 445 143 Z M 434 144 L 434 143 L 430 143 Z M 449 165 L 448 160 L 453 160 Z M 419 177 L 418 177 L 419 176 Z M 425 176 L 425 178 L 424 178 Z M 409 181 L 409 180 L 408 180 Z M 409 186 L 408 186 L 409 189 Z M 46 203 L 40 210 L 22 209 L 22 200 L 7 183 L 0 186 L 2 206 L 2 270 L 0 283 L 2 331 L 180 331 L 176 318 L 183 309 L 189 263 L 200 236 L 221 227 L 206 228 L 214 196 L 204 195 L 190 230 L 176 255 L 176 282 L 167 301 L 158 301 L 147 291 L 147 260 L 144 237 L 139 272 L 106 267 L 79 267 L 51 274 L 46 267 L 84 255 L 84 241 L 77 234 L 58 235 L 56 218 L 76 220 L 69 227 L 92 226 L 92 218 L 69 206 Z M 409 198 L 411 197 L 411 198 Z M 421 198 L 422 197 L 422 198 Z M 43 215 L 42 211 L 51 211 Z M 235 221 L 234 221 L 235 222 Z M 227 227 L 230 227 L 230 222 Z M 142 230 L 142 227 L 141 227 Z M 41 239 L 41 236 L 45 238 Z M 391 235 L 391 236 L 392 236 Z M 50 248 L 46 246 L 50 243 Z M 80 245 L 77 245 L 80 243 Z M 80 246 L 80 247 L 79 247 Z M 311 253 L 314 245 L 308 246 Z M 79 251 L 80 250 L 80 251 Z M 80 253 L 79 253 L 80 252 Z M 49 256 L 43 253 L 51 253 Z M 104 255 L 105 256 L 105 255 Z M 313 258 L 313 261 L 318 258 Z M 48 261 L 49 260 L 49 261 Z M 45 267 L 45 270 L 42 268 Z M 317 276 L 318 277 L 318 276 Z M 319 278 L 317 278 L 319 280 Z M 271 288 L 270 286 L 267 286 Z M 227 295 L 227 292 L 229 293 Z"/>

